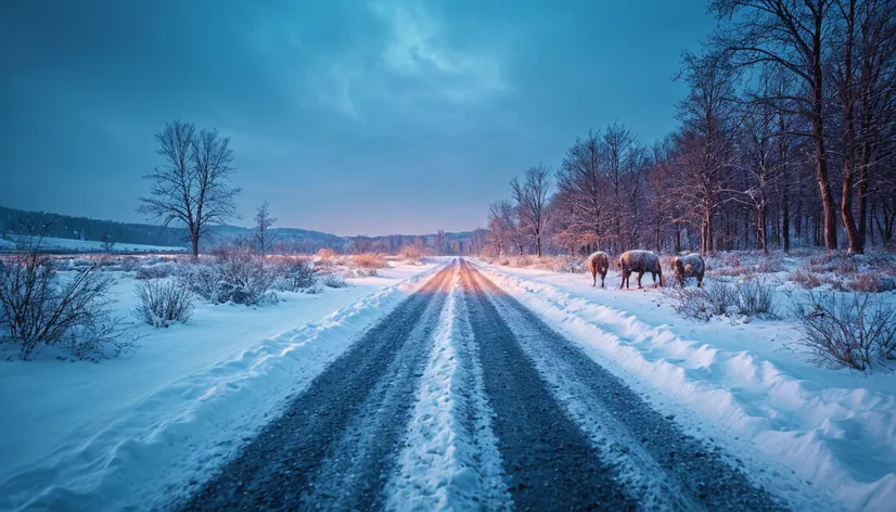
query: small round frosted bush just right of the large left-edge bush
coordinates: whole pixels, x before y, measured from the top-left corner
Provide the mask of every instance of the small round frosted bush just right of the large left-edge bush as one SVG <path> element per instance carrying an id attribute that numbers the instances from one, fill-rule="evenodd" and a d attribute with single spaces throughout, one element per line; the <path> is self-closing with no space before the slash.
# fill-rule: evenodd
<path id="1" fill-rule="evenodd" d="M 193 315 L 193 294 L 176 281 L 149 280 L 135 290 L 139 304 L 131 313 L 156 328 L 187 322 Z"/>

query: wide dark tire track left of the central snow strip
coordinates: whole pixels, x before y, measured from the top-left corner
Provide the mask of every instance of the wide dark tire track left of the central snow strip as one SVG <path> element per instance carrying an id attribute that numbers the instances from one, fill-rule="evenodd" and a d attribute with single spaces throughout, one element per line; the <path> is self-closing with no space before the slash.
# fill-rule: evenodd
<path id="1" fill-rule="evenodd" d="M 453 271 L 369 330 L 182 508 L 382 508 Z"/>

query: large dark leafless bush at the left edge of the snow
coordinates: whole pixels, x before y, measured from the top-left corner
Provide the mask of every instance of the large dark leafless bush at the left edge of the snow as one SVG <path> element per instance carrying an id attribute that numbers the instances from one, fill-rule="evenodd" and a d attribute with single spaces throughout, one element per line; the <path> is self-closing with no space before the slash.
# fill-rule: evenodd
<path id="1" fill-rule="evenodd" d="M 112 317 L 107 293 L 114 280 L 98 264 L 63 278 L 38 247 L 39 241 L 0 265 L 0 327 L 21 346 L 23 359 L 46 346 L 92 360 L 132 347 L 121 319 Z"/>

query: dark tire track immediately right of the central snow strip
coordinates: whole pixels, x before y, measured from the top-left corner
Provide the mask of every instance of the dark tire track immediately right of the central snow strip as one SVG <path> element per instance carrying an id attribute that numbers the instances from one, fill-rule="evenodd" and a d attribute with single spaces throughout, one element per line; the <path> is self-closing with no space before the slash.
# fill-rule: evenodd
<path id="1" fill-rule="evenodd" d="M 492 427 L 513 503 L 522 510 L 633 510 L 614 468 L 566 415 L 481 283 L 461 264 Z M 491 293 L 489 291 L 489 293 Z"/>

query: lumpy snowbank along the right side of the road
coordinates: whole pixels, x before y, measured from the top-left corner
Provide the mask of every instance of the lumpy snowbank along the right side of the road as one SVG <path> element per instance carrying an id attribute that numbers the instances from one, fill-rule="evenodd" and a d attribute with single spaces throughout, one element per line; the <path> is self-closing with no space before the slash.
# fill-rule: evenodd
<path id="1" fill-rule="evenodd" d="M 896 376 L 818 369 L 783 348 L 785 322 L 683 320 L 657 293 L 592 289 L 590 276 L 479 264 L 688 432 L 712 437 L 799 508 L 896 502 Z M 614 279 L 618 279 L 615 278 Z M 611 279 L 612 281 L 612 279 Z"/>

